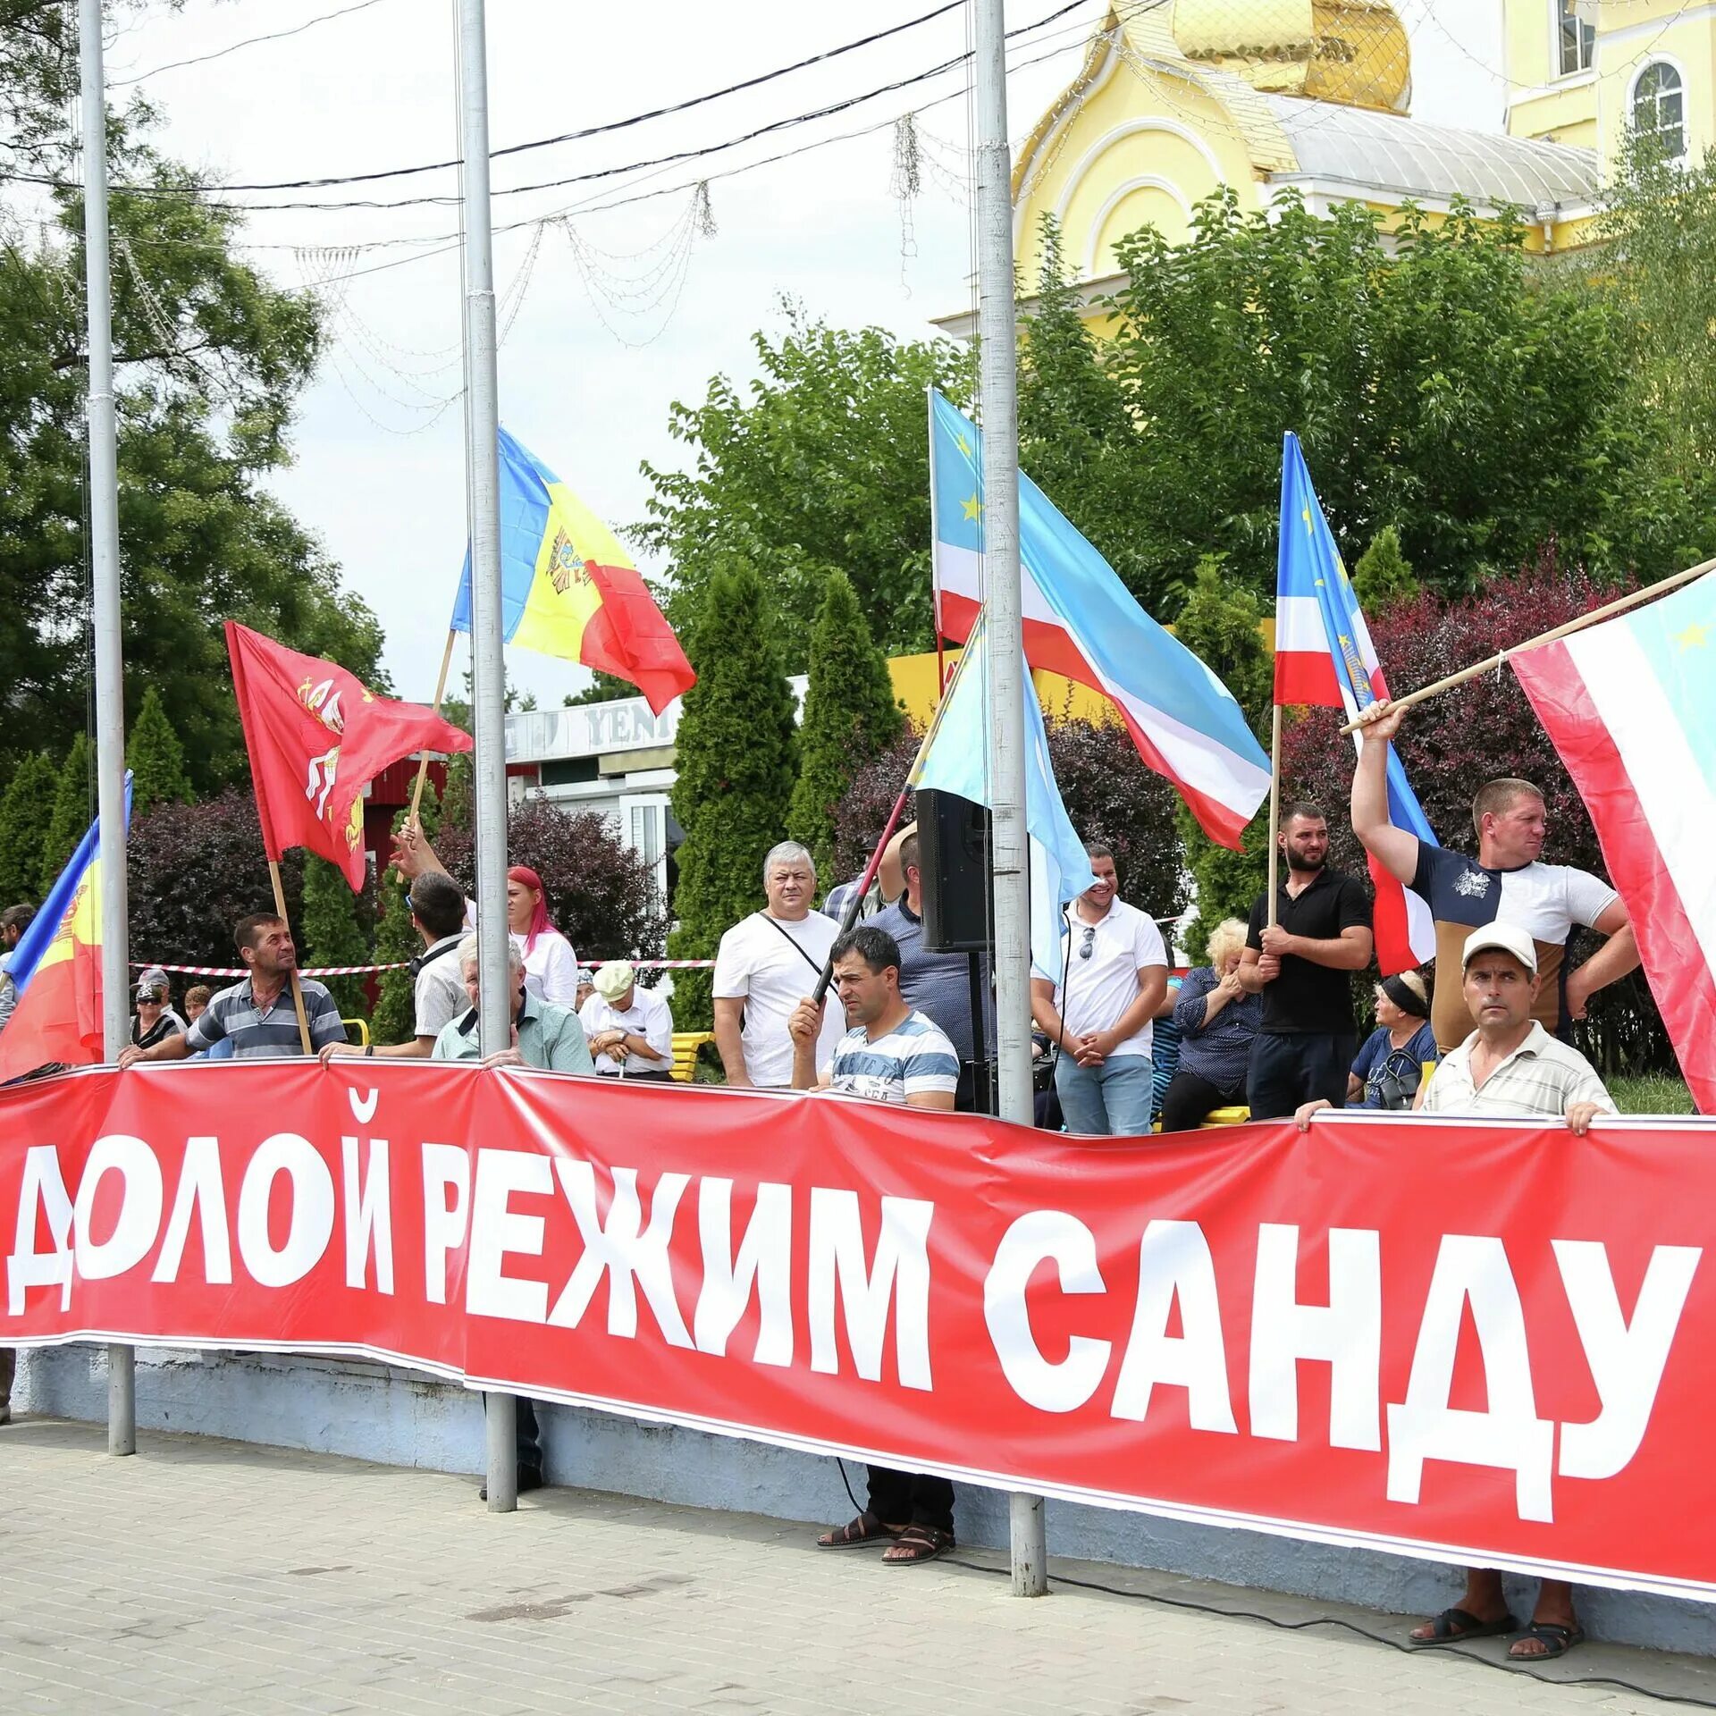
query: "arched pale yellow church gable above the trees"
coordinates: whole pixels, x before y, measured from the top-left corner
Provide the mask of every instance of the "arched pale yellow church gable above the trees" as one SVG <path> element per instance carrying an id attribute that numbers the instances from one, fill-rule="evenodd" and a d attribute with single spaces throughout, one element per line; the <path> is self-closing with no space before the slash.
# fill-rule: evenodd
<path id="1" fill-rule="evenodd" d="M 1042 220 L 1057 214 L 1076 276 L 1115 271 L 1114 245 L 1146 221 L 1170 242 L 1189 232 L 1193 206 L 1234 185 L 1241 208 L 1260 206 L 1258 175 L 1232 117 L 1196 84 L 1110 60 L 1097 86 L 1026 165 L 1018 199 L 1021 276 L 1042 271 Z"/>

